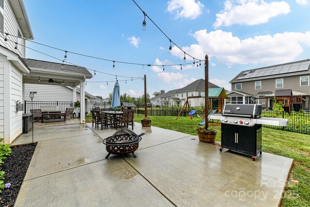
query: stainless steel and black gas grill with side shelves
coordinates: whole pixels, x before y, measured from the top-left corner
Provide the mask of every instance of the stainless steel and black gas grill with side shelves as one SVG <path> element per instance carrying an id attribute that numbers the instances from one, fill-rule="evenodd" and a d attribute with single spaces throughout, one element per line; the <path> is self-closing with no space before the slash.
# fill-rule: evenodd
<path id="1" fill-rule="evenodd" d="M 255 161 L 262 154 L 262 125 L 282 126 L 288 119 L 261 117 L 261 104 L 224 104 L 222 114 L 211 114 L 209 119 L 221 121 L 221 147 L 252 155 Z"/>

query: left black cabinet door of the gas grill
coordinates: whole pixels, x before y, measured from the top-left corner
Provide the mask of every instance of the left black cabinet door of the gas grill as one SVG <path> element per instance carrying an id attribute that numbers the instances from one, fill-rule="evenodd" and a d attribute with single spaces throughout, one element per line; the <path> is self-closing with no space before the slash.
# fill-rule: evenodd
<path id="1" fill-rule="evenodd" d="M 221 145 L 224 148 L 237 150 L 237 143 L 235 143 L 235 134 L 237 127 L 230 124 L 222 124 Z"/>

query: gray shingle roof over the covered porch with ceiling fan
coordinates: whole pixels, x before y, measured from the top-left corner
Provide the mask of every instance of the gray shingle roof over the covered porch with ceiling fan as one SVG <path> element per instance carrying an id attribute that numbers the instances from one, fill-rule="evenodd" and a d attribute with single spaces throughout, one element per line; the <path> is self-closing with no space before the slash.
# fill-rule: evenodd
<path id="1" fill-rule="evenodd" d="M 70 64 L 62 64 L 61 63 L 52 63 L 47 61 L 40 61 L 40 60 L 33 60 L 23 58 L 24 62 L 31 68 L 38 68 L 38 69 L 48 69 L 53 71 L 61 71 L 61 72 L 68 72 L 68 73 L 78 73 L 88 78 L 92 78 L 93 75 L 85 68 Z"/>

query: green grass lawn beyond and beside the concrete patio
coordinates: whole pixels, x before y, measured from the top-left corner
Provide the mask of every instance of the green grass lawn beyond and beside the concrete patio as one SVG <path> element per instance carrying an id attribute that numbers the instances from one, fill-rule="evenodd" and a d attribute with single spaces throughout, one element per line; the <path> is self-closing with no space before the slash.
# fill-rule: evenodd
<path id="1" fill-rule="evenodd" d="M 140 122 L 144 116 L 135 116 Z M 174 116 L 150 116 L 152 126 L 166 128 L 186 134 L 197 135 L 194 129 L 201 118 Z M 211 123 L 217 129 L 217 141 L 220 141 L 220 125 Z M 263 152 L 294 159 L 294 166 L 282 200 L 283 207 L 310 207 L 310 136 L 294 132 L 263 127 Z M 298 180 L 299 183 L 292 183 Z"/>

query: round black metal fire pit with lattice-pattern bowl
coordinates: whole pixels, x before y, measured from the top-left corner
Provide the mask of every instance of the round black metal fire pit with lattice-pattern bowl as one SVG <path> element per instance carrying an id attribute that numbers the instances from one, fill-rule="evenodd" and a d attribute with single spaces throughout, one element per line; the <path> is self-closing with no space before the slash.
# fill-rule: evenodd
<path id="1" fill-rule="evenodd" d="M 109 152 L 106 158 L 109 158 L 110 154 L 123 155 L 129 153 L 132 153 L 137 158 L 134 151 L 138 149 L 139 142 L 142 140 L 141 136 L 143 135 L 144 133 L 137 135 L 129 129 L 118 130 L 112 136 L 102 141 L 102 143 L 106 144 L 106 149 Z"/>

